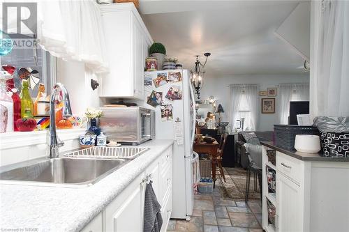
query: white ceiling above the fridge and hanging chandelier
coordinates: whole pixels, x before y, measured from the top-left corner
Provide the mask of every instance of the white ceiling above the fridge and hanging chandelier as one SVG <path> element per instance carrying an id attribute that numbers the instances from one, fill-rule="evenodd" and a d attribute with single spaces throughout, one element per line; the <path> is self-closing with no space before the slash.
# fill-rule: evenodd
<path id="1" fill-rule="evenodd" d="M 298 3 L 140 0 L 140 13 L 152 38 L 184 68 L 211 52 L 209 76 L 303 74 L 304 59 L 274 35 Z"/>

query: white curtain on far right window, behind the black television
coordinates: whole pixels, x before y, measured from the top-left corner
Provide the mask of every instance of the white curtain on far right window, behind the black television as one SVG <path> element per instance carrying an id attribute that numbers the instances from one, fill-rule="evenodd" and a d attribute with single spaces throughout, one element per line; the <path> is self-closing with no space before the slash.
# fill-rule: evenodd
<path id="1" fill-rule="evenodd" d="M 309 101 L 309 84 L 279 84 L 278 111 L 279 123 L 288 124 L 290 101 Z"/>

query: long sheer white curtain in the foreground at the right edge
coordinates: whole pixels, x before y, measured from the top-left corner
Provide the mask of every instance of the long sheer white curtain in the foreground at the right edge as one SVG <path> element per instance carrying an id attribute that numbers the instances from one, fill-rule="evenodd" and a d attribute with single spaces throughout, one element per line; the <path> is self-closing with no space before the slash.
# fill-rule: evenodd
<path id="1" fill-rule="evenodd" d="M 318 116 L 349 116 L 349 1 L 314 3 L 314 102 Z"/>

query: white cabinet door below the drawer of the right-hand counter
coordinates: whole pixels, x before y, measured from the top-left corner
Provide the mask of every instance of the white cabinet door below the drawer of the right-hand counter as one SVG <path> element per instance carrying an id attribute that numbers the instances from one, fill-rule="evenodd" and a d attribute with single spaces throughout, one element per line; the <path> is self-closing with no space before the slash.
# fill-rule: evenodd
<path id="1" fill-rule="evenodd" d="M 303 231 L 301 187 L 279 171 L 276 173 L 276 201 L 277 231 Z"/>

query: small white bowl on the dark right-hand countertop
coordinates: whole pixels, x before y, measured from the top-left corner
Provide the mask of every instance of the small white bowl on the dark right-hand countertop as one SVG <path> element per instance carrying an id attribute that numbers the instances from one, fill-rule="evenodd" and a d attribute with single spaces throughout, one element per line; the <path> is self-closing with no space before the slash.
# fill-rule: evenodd
<path id="1" fill-rule="evenodd" d="M 321 150 L 320 137 L 313 134 L 297 134 L 295 149 L 302 153 L 318 153 Z"/>

